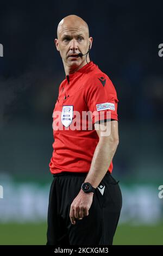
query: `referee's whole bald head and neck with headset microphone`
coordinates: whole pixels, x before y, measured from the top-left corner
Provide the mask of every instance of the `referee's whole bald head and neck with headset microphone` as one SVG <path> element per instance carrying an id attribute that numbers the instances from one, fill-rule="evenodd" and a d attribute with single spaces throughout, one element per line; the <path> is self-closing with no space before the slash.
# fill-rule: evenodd
<path id="1" fill-rule="evenodd" d="M 82 18 L 77 15 L 66 16 L 58 24 L 57 36 L 55 46 L 60 52 L 66 74 L 82 68 L 87 60 L 90 62 L 89 51 L 93 38 L 89 36 L 89 27 Z"/>

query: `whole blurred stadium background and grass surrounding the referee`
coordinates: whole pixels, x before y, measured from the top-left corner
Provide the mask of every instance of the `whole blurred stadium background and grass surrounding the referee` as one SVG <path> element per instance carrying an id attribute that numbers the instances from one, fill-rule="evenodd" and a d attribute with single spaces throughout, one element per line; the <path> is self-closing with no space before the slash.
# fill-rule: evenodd
<path id="1" fill-rule="evenodd" d="M 115 245 L 163 245 L 161 1 L 7 1 L 0 9 L 0 245 L 46 243 L 52 112 L 65 77 L 58 22 L 76 14 L 93 36 L 90 58 L 119 99 L 113 176 L 123 195 Z"/>

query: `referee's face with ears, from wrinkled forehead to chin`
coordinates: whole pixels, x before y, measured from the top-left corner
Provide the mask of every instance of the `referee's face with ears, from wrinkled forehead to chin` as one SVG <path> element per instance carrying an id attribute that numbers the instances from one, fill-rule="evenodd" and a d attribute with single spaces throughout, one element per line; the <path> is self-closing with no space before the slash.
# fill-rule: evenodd
<path id="1" fill-rule="evenodd" d="M 76 68 L 85 61 L 85 56 L 77 55 L 85 54 L 89 50 L 89 44 L 92 44 L 92 38 L 89 38 L 87 28 L 84 26 L 60 26 L 58 39 L 55 39 L 55 45 L 64 64 L 71 68 Z"/>

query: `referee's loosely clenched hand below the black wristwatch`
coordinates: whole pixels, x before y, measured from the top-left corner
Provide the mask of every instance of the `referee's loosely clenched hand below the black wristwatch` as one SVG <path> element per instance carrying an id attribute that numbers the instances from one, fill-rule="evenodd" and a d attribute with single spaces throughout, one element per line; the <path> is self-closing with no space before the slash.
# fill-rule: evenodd
<path id="1" fill-rule="evenodd" d="M 89 215 L 89 209 L 93 200 L 93 192 L 85 193 L 80 190 L 78 196 L 74 198 L 70 208 L 70 220 L 72 224 L 76 224 L 75 219 L 82 220 L 83 217 Z"/>

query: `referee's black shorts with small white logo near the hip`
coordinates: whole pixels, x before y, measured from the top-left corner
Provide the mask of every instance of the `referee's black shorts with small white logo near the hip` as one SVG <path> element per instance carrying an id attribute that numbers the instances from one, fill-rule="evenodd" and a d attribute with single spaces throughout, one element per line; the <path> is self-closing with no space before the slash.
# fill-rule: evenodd
<path id="1" fill-rule="evenodd" d="M 87 173 L 54 175 L 49 193 L 47 245 L 112 245 L 122 208 L 118 182 L 107 172 L 93 195 L 89 215 L 76 224 L 70 206 Z"/>

